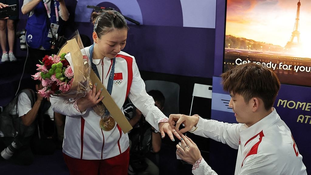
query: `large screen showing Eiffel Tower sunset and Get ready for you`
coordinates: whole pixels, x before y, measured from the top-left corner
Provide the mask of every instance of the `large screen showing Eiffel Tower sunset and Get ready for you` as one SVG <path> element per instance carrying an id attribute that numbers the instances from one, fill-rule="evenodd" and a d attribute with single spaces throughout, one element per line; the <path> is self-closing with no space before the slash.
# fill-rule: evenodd
<path id="1" fill-rule="evenodd" d="M 311 3 L 227 0 L 223 72 L 254 62 L 281 83 L 311 86 Z"/>

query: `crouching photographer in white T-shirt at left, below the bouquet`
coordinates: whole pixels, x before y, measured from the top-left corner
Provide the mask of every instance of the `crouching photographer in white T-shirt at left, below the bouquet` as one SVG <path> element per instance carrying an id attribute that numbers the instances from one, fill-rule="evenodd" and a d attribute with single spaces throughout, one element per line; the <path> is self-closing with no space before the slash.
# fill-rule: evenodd
<path id="1" fill-rule="evenodd" d="M 42 89 L 36 81 L 36 92 Z M 33 154 L 49 155 L 55 151 L 56 136 L 53 111 L 48 98 L 24 89 L 0 114 L 0 159 L 18 165 L 30 165 Z"/>

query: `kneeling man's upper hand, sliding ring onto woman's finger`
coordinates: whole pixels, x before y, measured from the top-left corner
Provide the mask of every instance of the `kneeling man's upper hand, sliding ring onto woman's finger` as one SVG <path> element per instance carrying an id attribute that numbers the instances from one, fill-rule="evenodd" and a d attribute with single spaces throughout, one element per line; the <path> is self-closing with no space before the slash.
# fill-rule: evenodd
<path id="1" fill-rule="evenodd" d="M 197 126 L 198 121 L 199 118 L 197 116 L 186 116 L 183 114 L 169 115 L 169 125 L 174 126 L 176 124 L 176 131 L 179 133 L 179 135 L 182 135 L 181 133 L 185 133 L 191 130 L 193 126 Z M 179 130 L 179 126 L 181 124 L 184 124 L 185 127 Z"/>

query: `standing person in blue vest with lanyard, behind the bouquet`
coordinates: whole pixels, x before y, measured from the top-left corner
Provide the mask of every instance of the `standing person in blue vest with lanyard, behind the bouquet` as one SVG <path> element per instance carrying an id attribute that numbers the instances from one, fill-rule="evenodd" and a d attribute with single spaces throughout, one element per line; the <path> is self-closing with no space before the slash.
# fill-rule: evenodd
<path id="1" fill-rule="evenodd" d="M 69 12 L 64 0 L 24 0 L 21 12 L 29 14 L 26 24 L 28 58 L 25 69 L 26 73 L 35 74 L 39 60 L 45 55 L 57 54 L 52 53 L 50 41 L 55 33 L 60 32 L 63 21 L 69 19 Z"/>

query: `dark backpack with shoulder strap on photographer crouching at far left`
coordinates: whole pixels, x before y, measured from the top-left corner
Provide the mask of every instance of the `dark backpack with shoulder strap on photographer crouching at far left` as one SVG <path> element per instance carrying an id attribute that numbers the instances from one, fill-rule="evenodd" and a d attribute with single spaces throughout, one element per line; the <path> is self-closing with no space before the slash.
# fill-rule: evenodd
<path id="1" fill-rule="evenodd" d="M 21 92 L 27 94 L 32 107 L 35 104 L 35 92 L 31 89 L 23 89 Z M 18 116 L 17 102 L 21 92 L 19 92 L 9 104 L 4 106 L 3 111 L 0 113 L 0 130 L 4 137 L 16 137 L 17 135 L 29 137 L 35 132 L 34 123 L 27 127 L 24 125 L 21 117 Z"/>

